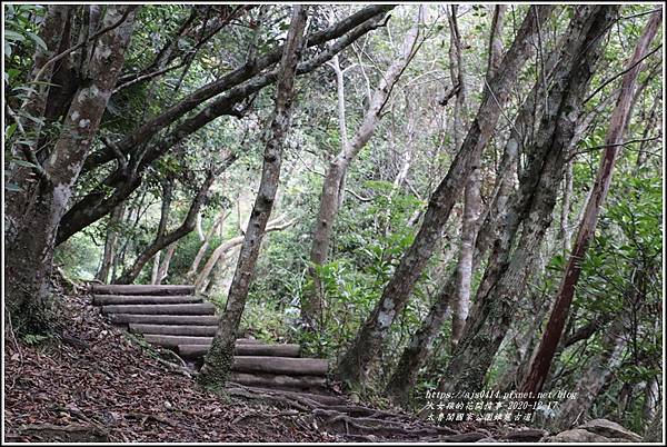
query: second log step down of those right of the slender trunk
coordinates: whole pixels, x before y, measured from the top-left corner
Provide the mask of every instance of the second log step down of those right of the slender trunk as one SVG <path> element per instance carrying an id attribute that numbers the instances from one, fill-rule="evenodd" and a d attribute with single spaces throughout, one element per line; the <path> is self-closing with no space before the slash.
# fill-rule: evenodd
<path id="1" fill-rule="evenodd" d="M 323 376 L 329 370 L 329 364 L 327 360 L 318 358 L 235 356 L 231 370 L 289 376 Z"/>

